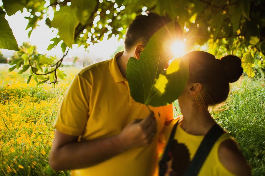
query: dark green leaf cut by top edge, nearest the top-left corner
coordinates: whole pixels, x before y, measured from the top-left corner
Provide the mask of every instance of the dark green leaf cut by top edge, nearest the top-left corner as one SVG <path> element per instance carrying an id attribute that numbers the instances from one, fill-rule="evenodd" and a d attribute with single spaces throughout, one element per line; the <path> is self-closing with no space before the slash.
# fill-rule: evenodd
<path id="1" fill-rule="evenodd" d="M 8 16 L 15 14 L 17 11 L 23 11 L 27 0 L 2 0 L 4 9 Z"/>

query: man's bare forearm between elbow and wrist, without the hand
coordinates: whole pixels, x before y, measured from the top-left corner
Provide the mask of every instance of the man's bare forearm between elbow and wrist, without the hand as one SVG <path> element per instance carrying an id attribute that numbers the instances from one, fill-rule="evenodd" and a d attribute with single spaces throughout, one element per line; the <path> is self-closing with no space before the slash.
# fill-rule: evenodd
<path id="1" fill-rule="evenodd" d="M 122 153 L 119 136 L 82 142 L 70 142 L 51 151 L 50 165 L 54 170 L 90 167 Z"/>

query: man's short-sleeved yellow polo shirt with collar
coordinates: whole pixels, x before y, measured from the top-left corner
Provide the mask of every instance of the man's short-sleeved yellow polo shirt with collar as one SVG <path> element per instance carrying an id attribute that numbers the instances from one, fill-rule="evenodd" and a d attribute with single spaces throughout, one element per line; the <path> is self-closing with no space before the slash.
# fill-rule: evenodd
<path id="1" fill-rule="evenodd" d="M 85 67 L 74 77 L 54 123 L 58 131 L 80 136 L 81 141 L 106 138 L 120 133 L 134 119 L 144 119 L 149 114 L 145 105 L 130 96 L 128 82 L 116 61 L 120 55 L 122 52 Z M 155 112 L 160 133 L 165 120 L 173 118 L 172 104 L 150 109 Z M 98 165 L 71 172 L 72 176 L 152 176 L 157 166 L 158 134 L 147 147 L 130 149 Z"/>

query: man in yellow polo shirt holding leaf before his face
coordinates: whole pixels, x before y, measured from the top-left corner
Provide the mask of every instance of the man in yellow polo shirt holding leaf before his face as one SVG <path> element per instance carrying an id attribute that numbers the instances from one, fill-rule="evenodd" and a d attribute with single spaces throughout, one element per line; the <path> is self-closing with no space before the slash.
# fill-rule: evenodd
<path id="1" fill-rule="evenodd" d="M 49 163 L 54 170 L 85 176 L 152 176 L 158 134 L 173 118 L 172 104 L 148 108 L 130 96 L 129 58 L 140 58 L 150 37 L 169 19 L 140 15 L 128 27 L 125 51 L 82 69 L 58 112 Z M 103 49 L 102 49 L 103 50 Z"/>

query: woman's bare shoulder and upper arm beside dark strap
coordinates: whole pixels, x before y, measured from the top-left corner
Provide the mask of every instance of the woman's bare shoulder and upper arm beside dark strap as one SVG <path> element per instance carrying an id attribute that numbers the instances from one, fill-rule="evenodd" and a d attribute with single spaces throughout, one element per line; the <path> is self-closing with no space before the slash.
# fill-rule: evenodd
<path id="1" fill-rule="evenodd" d="M 236 141 L 224 133 L 216 143 L 218 161 L 221 165 L 234 175 L 251 175 L 251 168 L 240 152 Z"/>

